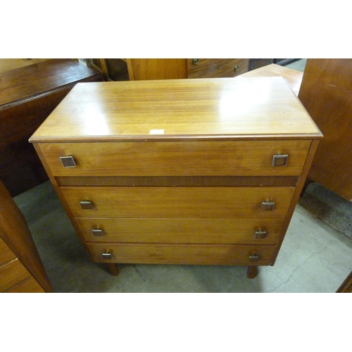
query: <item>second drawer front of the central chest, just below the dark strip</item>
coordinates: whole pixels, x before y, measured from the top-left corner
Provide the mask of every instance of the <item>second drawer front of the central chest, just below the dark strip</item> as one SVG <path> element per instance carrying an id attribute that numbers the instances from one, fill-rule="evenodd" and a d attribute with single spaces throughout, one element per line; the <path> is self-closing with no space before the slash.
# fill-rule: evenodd
<path id="1" fill-rule="evenodd" d="M 281 219 L 287 213 L 294 190 L 294 187 L 61 187 L 75 218 L 273 219 L 278 216 Z M 261 210 L 266 200 L 275 203 L 273 210 Z"/>

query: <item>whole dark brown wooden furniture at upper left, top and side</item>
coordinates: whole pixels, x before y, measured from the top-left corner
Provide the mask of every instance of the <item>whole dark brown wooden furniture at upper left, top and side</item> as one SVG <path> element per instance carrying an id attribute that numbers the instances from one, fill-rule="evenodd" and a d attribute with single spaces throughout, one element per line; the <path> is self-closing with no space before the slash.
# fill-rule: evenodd
<path id="1" fill-rule="evenodd" d="M 11 196 L 48 180 L 28 139 L 77 82 L 103 76 L 72 59 L 0 73 L 0 180 Z"/>

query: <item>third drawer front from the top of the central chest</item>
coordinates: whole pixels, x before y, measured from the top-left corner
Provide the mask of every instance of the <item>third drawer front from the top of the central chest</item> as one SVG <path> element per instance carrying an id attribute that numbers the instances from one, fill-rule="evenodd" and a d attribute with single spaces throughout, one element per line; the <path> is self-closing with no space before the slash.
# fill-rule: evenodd
<path id="1" fill-rule="evenodd" d="M 251 219 L 76 218 L 86 241 L 179 244 L 277 244 L 284 215 Z M 259 232 L 259 230 L 261 230 Z M 266 232 L 266 233 L 265 233 Z"/>

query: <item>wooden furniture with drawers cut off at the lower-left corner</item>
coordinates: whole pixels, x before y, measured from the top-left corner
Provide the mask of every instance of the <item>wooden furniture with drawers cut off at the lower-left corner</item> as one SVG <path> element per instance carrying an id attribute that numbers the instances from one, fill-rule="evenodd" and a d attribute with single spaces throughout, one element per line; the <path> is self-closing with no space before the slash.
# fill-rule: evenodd
<path id="1" fill-rule="evenodd" d="M 32 235 L 0 181 L 0 292 L 51 292 Z"/>

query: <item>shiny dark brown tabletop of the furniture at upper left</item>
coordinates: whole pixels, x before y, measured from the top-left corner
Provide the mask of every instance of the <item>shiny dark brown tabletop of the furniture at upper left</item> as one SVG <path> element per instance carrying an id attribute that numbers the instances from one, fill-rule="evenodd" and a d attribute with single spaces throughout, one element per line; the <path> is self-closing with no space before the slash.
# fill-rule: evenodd
<path id="1" fill-rule="evenodd" d="M 0 110 L 99 75 L 73 59 L 55 58 L 0 73 Z"/>

